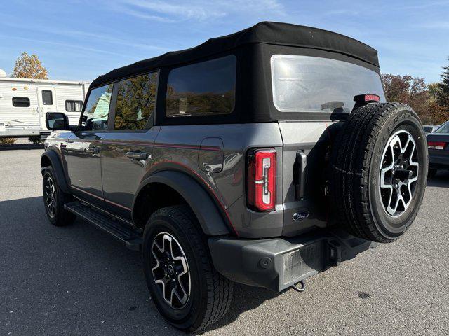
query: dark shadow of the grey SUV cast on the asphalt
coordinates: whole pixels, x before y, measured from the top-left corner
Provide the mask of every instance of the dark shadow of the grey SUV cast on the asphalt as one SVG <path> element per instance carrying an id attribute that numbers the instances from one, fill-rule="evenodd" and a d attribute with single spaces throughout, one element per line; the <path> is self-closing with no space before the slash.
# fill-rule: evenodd
<path id="1" fill-rule="evenodd" d="M 185 335 L 156 310 L 140 253 L 85 221 L 51 225 L 42 197 L 0 202 L 0 214 L 0 311 L 8 312 L 2 318 L 6 334 Z M 276 295 L 236 285 L 229 312 L 208 330 Z"/>

